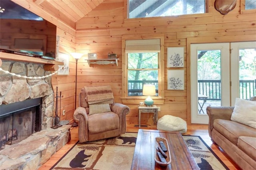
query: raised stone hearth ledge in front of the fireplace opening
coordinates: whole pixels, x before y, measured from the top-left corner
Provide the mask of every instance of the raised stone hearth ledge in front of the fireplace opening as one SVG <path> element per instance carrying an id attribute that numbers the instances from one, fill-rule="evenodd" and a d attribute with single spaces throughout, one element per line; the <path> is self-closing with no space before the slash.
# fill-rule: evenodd
<path id="1" fill-rule="evenodd" d="M 71 125 L 36 132 L 0 150 L 0 167 L 4 170 L 36 170 L 70 140 Z"/>

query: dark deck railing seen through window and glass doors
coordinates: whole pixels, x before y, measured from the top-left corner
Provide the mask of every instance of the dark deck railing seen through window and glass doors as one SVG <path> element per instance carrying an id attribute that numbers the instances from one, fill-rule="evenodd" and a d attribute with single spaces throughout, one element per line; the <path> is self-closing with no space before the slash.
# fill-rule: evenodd
<path id="1" fill-rule="evenodd" d="M 156 95 L 158 95 L 158 81 L 157 80 L 129 80 L 128 81 L 128 95 L 141 96 L 142 88 L 145 83 L 154 84 L 156 87 Z M 255 80 L 240 80 L 240 98 L 249 99 L 256 95 L 256 79 Z M 221 100 L 221 82 L 220 80 L 198 80 L 198 94 L 206 95 L 207 100 L 220 101 Z"/>

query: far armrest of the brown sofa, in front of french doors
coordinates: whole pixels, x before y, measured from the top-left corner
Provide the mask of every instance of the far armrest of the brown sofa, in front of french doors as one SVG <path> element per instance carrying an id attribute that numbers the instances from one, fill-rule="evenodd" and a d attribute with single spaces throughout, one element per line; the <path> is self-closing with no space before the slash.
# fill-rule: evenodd
<path id="1" fill-rule="evenodd" d="M 212 129 L 213 129 L 213 123 L 215 119 L 224 119 L 229 120 L 231 118 L 231 115 L 233 113 L 234 107 L 212 107 L 208 106 L 206 107 L 206 113 L 209 116 L 209 125 L 208 125 L 208 131 L 209 136 L 212 138 Z"/>

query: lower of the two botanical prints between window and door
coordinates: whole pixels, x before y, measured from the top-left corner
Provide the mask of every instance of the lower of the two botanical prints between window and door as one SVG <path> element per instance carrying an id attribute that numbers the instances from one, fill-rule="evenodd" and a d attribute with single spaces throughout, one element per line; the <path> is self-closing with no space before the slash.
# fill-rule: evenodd
<path id="1" fill-rule="evenodd" d="M 167 83 L 168 90 L 184 90 L 184 70 L 168 70 Z"/>

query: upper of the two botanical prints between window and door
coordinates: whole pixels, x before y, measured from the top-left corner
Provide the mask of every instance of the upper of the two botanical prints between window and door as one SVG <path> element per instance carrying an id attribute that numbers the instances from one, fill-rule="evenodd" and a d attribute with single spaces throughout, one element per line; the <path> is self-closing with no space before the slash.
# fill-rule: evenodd
<path id="1" fill-rule="evenodd" d="M 167 47 L 167 67 L 184 67 L 184 47 Z"/>

